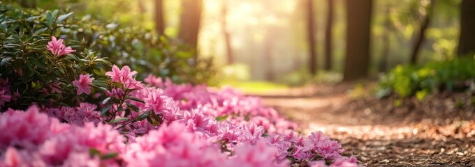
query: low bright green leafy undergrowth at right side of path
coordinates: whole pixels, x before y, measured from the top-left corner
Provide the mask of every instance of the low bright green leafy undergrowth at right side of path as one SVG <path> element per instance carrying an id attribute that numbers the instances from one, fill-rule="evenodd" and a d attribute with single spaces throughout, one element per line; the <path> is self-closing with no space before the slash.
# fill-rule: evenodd
<path id="1" fill-rule="evenodd" d="M 473 57 L 432 61 L 421 67 L 399 65 L 380 79 L 377 97 L 395 93 L 400 97 L 416 95 L 422 99 L 434 90 L 467 90 L 474 79 Z"/>

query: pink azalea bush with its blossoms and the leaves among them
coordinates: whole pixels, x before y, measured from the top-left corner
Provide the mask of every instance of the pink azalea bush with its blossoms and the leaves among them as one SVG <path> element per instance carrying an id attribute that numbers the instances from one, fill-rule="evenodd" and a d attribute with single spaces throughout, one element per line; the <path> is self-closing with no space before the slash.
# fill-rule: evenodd
<path id="1" fill-rule="evenodd" d="M 105 71 L 107 61 L 50 39 L 33 54 L 34 74 L 13 56 L 1 66 L 14 70 L 1 70 L 0 166 L 357 166 L 337 141 L 299 134 L 257 97 L 138 81 L 129 66 Z"/>

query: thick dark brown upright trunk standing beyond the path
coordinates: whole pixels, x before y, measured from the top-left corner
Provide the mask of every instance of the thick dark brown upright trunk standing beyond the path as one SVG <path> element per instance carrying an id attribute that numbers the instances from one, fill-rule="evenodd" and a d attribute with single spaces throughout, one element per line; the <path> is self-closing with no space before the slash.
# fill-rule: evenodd
<path id="1" fill-rule="evenodd" d="M 343 81 L 367 77 L 370 65 L 372 0 L 346 0 L 346 58 Z"/>

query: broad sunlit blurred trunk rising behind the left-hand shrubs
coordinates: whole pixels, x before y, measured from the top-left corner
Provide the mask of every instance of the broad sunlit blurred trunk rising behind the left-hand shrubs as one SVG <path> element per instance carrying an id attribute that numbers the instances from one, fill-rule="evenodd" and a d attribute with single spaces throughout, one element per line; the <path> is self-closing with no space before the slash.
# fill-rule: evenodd
<path id="1" fill-rule="evenodd" d="M 203 0 L 182 0 L 180 33 L 178 38 L 198 51 L 198 32 L 200 29 Z M 198 53 L 196 53 L 198 56 Z"/>

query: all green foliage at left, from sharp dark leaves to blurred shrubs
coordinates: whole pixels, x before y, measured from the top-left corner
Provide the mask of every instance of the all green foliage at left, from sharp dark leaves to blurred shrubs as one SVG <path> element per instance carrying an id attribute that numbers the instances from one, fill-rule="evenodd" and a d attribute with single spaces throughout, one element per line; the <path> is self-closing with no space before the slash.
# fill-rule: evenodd
<path id="1" fill-rule="evenodd" d="M 53 56 L 46 49 L 51 36 L 64 39 L 75 52 Z M 129 65 L 143 74 L 138 79 L 152 73 L 175 82 L 200 84 L 213 74 L 210 60 L 196 61 L 193 50 L 172 45 L 163 36 L 78 18 L 66 10 L 45 11 L 0 2 L 0 79 L 8 79 L 12 94 L 18 90 L 22 95 L 4 109 L 33 103 L 71 106 L 82 98 L 92 98 L 76 95 L 71 82 L 79 74 L 94 74 L 93 95 L 99 87 L 107 87 L 103 77 L 110 64 Z M 52 93 L 53 88 L 61 93 Z"/>

